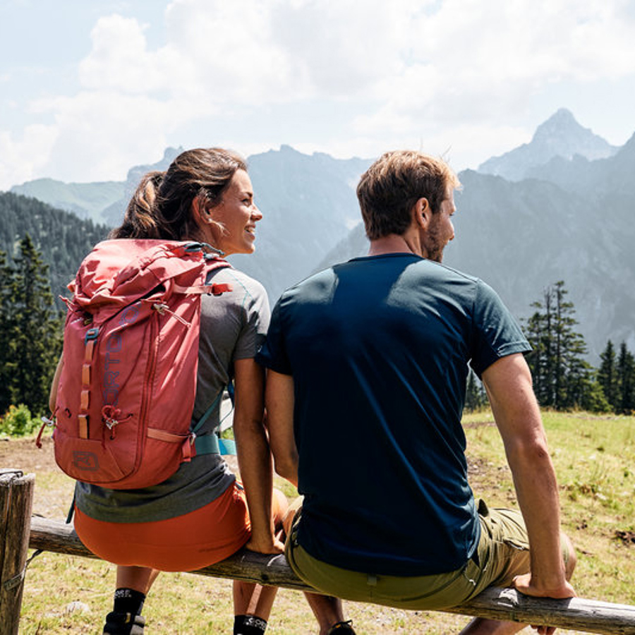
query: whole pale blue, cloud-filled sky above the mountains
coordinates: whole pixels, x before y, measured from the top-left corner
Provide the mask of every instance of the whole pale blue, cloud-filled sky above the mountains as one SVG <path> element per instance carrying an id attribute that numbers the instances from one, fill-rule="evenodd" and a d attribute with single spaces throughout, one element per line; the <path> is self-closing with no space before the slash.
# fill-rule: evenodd
<path id="1" fill-rule="evenodd" d="M 121 181 L 167 146 L 457 170 L 558 108 L 635 132 L 631 0 L 0 0 L 0 190 Z"/>

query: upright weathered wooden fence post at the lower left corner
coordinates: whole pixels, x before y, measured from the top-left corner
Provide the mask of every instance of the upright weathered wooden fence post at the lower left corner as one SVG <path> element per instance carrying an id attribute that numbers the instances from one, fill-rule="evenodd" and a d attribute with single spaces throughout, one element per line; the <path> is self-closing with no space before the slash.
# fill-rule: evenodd
<path id="1" fill-rule="evenodd" d="M 0 469 L 0 635 L 18 635 L 35 476 Z"/>

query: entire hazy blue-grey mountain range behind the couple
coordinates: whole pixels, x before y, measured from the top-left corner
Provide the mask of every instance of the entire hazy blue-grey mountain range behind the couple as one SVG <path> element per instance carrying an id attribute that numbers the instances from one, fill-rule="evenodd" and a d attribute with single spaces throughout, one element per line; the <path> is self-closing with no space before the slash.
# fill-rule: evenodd
<path id="1" fill-rule="evenodd" d="M 124 182 L 31 181 L 11 189 L 113 226 L 141 174 L 165 169 L 180 149 L 134 167 Z M 304 155 L 283 145 L 248 157 L 264 214 L 257 251 L 234 256 L 272 301 L 291 284 L 368 248 L 354 188 L 372 159 Z M 530 143 L 461 171 L 456 238 L 444 264 L 483 278 L 516 317 L 530 315 L 543 290 L 564 280 L 591 361 L 627 341 L 635 349 L 635 136 L 607 143 L 560 109 Z M 0 219 L 1 220 L 1 219 Z"/>

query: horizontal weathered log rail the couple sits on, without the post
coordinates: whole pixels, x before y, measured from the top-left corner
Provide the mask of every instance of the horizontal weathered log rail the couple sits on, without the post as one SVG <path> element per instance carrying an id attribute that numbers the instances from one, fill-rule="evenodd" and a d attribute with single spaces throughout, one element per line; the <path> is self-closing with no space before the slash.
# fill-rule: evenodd
<path id="1" fill-rule="evenodd" d="M 44 551 L 92 557 L 70 525 L 34 517 L 30 547 Z M 211 567 L 193 573 L 281 586 L 297 591 L 315 591 L 298 579 L 284 556 L 267 556 L 243 550 Z M 511 619 L 526 624 L 548 624 L 586 633 L 635 635 L 635 607 L 598 600 L 529 598 L 511 588 L 488 588 L 463 605 L 445 612 Z"/>

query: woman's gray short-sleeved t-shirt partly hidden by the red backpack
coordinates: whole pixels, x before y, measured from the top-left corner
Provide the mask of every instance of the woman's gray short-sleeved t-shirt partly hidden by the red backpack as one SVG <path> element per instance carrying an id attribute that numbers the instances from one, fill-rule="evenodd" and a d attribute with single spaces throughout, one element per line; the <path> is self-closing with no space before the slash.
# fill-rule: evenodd
<path id="1" fill-rule="evenodd" d="M 219 425 L 222 392 L 234 377 L 234 361 L 255 357 L 269 327 L 267 292 L 260 282 L 235 269 L 210 273 L 208 282 L 228 283 L 221 296 L 201 296 L 198 375 L 193 423 L 216 400 L 198 434 Z M 218 398 L 218 399 L 217 399 Z M 179 399 L 179 395 L 174 395 Z M 78 482 L 75 503 L 90 518 L 115 522 L 159 521 L 205 506 L 229 488 L 236 477 L 219 454 L 195 456 L 159 485 L 139 490 L 110 490 Z"/>

